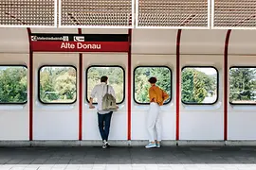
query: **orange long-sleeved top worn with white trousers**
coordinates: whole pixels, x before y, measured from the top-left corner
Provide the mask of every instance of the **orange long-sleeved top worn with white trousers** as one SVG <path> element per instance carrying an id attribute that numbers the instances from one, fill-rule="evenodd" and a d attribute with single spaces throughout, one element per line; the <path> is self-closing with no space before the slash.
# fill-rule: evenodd
<path id="1" fill-rule="evenodd" d="M 150 102 L 155 102 L 159 106 L 162 106 L 164 101 L 169 98 L 169 94 L 164 92 L 157 86 L 152 86 L 149 89 Z"/>

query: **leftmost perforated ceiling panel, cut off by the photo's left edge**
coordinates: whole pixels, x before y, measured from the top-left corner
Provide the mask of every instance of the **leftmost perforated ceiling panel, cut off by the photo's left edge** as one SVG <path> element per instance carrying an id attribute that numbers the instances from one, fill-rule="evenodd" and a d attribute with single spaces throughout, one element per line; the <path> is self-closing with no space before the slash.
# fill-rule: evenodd
<path id="1" fill-rule="evenodd" d="M 0 26 L 57 26 L 56 9 L 55 0 L 0 0 Z"/>

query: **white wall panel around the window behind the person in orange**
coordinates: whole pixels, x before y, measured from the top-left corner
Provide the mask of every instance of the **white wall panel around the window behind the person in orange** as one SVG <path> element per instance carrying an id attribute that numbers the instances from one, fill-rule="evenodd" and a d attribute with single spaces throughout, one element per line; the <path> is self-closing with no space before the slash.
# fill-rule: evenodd
<path id="1" fill-rule="evenodd" d="M 172 101 L 161 107 L 162 120 L 162 138 L 163 140 L 175 139 L 175 56 L 174 55 L 134 55 L 132 59 L 133 70 L 137 66 L 168 66 L 172 70 L 173 85 Z M 132 83 L 134 77 L 132 78 Z M 148 83 L 148 82 L 145 82 Z M 134 89 L 132 89 L 134 93 Z M 148 131 L 146 127 L 146 117 L 148 114 L 149 105 L 139 105 L 132 97 L 132 140 L 148 140 Z"/>

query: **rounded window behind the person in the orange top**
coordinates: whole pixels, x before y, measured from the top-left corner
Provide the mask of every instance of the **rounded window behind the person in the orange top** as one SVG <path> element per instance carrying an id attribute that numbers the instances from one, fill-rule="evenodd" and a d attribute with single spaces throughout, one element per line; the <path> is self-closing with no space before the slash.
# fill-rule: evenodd
<path id="1" fill-rule="evenodd" d="M 134 100 L 137 104 L 149 104 L 150 84 L 149 77 L 157 78 L 156 85 L 170 95 L 165 101 L 167 104 L 172 98 L 172 71 L 166 66 L 138 66 L 134 71 Z"/>

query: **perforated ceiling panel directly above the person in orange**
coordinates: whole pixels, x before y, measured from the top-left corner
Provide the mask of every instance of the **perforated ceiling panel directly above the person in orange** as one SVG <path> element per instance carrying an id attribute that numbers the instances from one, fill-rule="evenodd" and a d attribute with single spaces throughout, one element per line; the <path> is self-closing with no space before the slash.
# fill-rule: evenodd
<path id="1" fill-rule="evenodd" d="M 209 28 L 210 0 L 137 0 L 137 27 Z"/>

